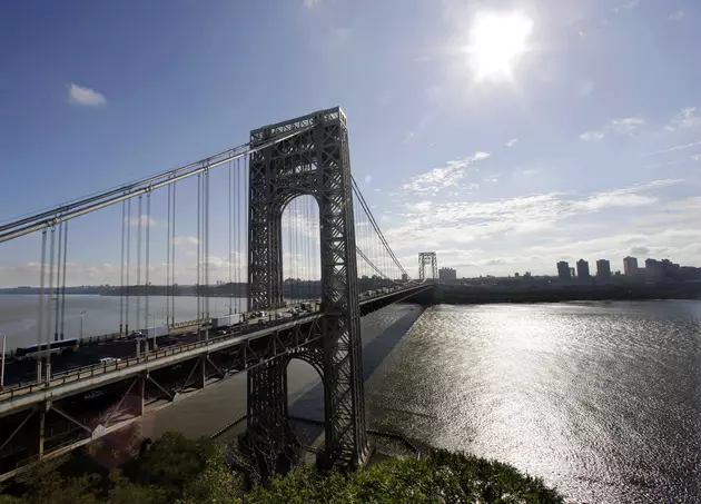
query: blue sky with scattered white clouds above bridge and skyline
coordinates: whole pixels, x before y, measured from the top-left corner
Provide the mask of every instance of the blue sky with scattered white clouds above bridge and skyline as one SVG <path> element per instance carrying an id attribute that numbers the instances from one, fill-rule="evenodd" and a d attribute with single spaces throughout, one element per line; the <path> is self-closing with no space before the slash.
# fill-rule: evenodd
<path id="1" fill-rule="evenodd" d="M 478 79 L 471 37 L 492 14 L 529 36 L 509 75 Z M 412 270 L 428 249 L 458 276 L 619 269 L 628 254 L 701 266 L 700 23 L 693 0 L 3 2 L 0 220 L 338 105 L 353 172 Z M 71 225 L 69 283 L 115 281 L 119 223 Z M 38 244 L 0 245 L 0 285 L 38 283 Z M 158 280 L 165 245 L 154 255 Z"/>

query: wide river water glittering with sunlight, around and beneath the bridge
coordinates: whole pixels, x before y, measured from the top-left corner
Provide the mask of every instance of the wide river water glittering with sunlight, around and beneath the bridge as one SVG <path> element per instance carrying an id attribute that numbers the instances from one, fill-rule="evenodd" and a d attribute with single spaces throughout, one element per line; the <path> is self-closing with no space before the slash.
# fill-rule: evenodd
<path id="1" fill-rule="evenodd" d="M 113 303 L 76 297 L 86 327 Z M 18 298 L 0 296 L 0 330 L 19 327 Z M 571 500 L 701 502 L 701 302 L 395 305 L 364 317 L 363 345 L 373 428 L 511 463 Z M 322 418 L 314 369 L 293 360 L 288 381 L 292 412 Z M 245 402 L 237 376 L 145 432 L 210 434 Z"/>

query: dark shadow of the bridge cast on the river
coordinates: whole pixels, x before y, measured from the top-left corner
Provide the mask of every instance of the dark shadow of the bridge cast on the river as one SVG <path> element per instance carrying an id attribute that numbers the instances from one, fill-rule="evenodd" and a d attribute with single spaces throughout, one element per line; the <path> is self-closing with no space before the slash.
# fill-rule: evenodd
<path id="1" fill-rule="evenodd" d="M 387 318 L 389 317 L 383 316 L 385 315 L 382 313 L 384 310 L 371 315 L 372 318 L 368 317 L 369 320 L 363 320 L 363 339 L 367 342 L 363 346 L 363 382 L 367 382 L 423 313 L 423 308 L 416 305 L 404 305 L 401 308 L 404 313 L 398 314 L 399 317 L 391 322 L 386 327 L 383 326 L 388 322 Z M 324 386 L 320 381 L 289 405 L 289 415 L 313 421 L 324 421 Z M 323 433 L 324 427 L 322 426 L 305 425 L 299 435 L 305 442 L 312 442 Z"/>

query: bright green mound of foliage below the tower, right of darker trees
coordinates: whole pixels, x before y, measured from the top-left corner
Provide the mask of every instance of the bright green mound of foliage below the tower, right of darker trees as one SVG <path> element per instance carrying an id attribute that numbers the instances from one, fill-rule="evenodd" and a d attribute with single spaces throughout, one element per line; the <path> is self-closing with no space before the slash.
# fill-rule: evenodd
<path id="1" fill-rule="evenodd" d="M 481 503 L 561 504 L 542 481 L 471 455 L 435 452 L 424 459 L 386 461 L 366 471 L 324 478 L 297 471 L 273 478 L 247 504 Z"/>

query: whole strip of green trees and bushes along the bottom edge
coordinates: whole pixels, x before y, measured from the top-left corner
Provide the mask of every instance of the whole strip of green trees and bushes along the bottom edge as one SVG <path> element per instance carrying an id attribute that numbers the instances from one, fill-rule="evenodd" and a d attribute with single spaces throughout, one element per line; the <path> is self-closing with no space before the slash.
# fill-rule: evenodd
<path id="1" fill-rule="evenodd" d="M 557 493 L 514 467 L 472 455 L 434 452 L 415 459 L 388 459 L 367 470 L 324 477 L 310 467 L 270 478 L 244 493 L 241 477 L 207 438 L 167 434 L 138 457 L 129 472 L 109 480 L 67 478 L 38 466 L 21 497 L 0 504 L 359 504 L 474 503 L 562 504 Z M 98 483 L 101 485 L 98 486 Z"/>

